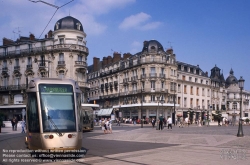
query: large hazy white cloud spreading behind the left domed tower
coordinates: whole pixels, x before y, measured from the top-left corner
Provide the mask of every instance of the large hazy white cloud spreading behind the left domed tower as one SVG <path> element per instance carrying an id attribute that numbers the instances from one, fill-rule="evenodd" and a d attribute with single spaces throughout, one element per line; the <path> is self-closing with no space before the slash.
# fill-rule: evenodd
<path id="1" fill-rule="evenodd" d="M 45 1 L 56 6 L 62 6 L 66 3 L 66 1 L 61 0 Z M 100 35 L 106 31 L 108 26 L 98 21 L 99 15 L 124 8 L 135 1 L 136 0 L 73 1 L 56 12 L 41 38 L 43 38 L 49 30 L 54 30 L 54 24 L 57 20 L 68 16 L 69 13 L 72 17 L 81 21 L 87 35 Z M 2 22 L 2 24 L 0 24 L 0 38 L 7 37 L 14 40 L 18 35 L 16 34 L 14 37 L 13 30 L 18 27 L 20 28 L 22 36 L 28 36 L 29 32 L 31 32 L 38 38 L 56 11 L 56 8 L 49 5 L 41 2 L 32 3 L 28 0 L 5 0 L 0 1 L 0 5 L 0 21 Z"/>

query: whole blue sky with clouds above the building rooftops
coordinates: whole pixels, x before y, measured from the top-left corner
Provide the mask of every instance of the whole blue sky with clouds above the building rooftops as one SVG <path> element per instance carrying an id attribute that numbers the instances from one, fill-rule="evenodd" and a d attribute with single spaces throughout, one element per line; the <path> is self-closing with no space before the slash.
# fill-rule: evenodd
<path id="1" fill-rule="evenodd" d="M 62 6 L 70 0 L 44 0 Z M 0 38 L 42 34 L 56 8 L 28 0 L 0 1 Z M 45 30 L 71 15 L 87 34 L 88 64 L 113 51 L 132 54 L 143 41 L 171 46 L 177 60 L 208 71 L 217 65 L 225 79 L 232 68 L 250 91 L 249 0 L 74 0 L 60 8 Z M 42 34 L 41 38 L 44 37 Z M 2 42 L 0 41 L 0 44 Z"/>

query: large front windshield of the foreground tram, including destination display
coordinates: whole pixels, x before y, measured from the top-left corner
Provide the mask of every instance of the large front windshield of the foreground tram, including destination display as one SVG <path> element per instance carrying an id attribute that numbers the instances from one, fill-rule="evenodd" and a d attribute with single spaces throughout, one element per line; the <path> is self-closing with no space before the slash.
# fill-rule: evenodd
<path id="1" fill-rule="evenodd" d="M 76 131 L 72 85 L 39 84 L 43 132 Z"/>

